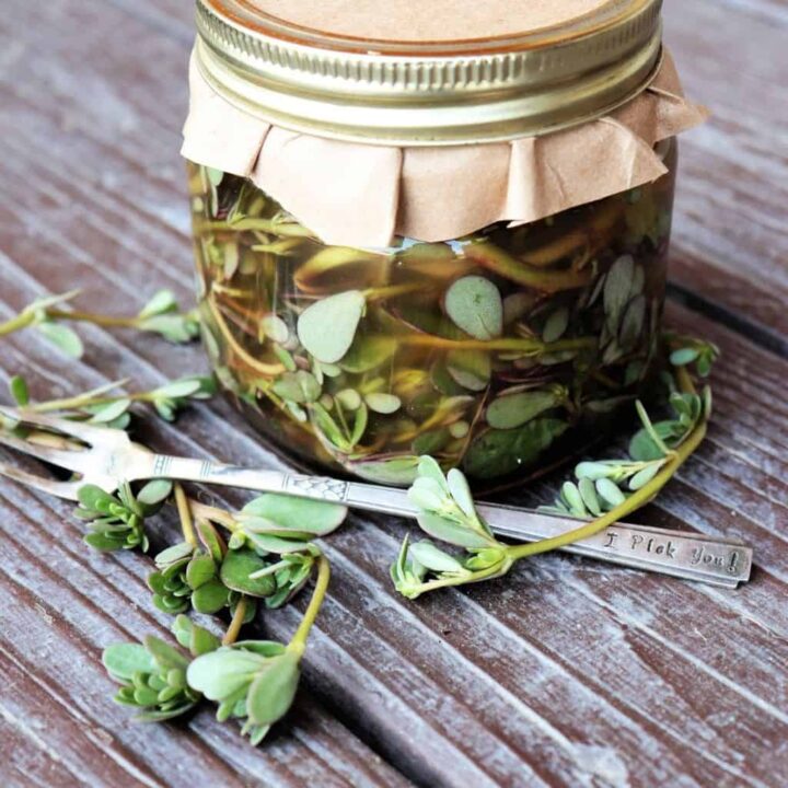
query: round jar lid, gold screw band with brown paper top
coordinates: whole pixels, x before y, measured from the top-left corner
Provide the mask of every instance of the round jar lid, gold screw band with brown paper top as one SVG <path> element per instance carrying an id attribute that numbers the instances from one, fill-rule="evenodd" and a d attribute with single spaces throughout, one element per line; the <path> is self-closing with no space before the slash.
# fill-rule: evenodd
<path id="1" fill-rule="evenodd" d="M 197 0 L 196 62 L 244 112 L 380 144 L 511 140 L 641 93 L 661 0 Z M 474 36 L 472 31 L 482 35 Z"/>

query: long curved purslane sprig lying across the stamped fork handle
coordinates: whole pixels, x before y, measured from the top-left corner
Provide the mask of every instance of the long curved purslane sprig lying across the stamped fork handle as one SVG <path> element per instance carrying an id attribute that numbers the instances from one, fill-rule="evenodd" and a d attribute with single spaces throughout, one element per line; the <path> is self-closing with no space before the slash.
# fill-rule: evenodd
<path id="1" fill-rule="evenodd" d="M 589 519 L 558 536 L 521 545 L 498 542 L 475 510 L 461 472 L 443 475 L 431 457 L 422 457 L 408 496 L 421 513 L 419 526 L 429 536 L 464 548 L 451 555 L 431 542 L 406 537 L 391 573 L 396 589 L 410 599 L 449 586 L 463 586 L 506 575 L 523 558 L 593 536 L 648 503 L 703 441 L 711 415 L 711 394 L 697 393 L 681 349 L 672 346 L 675 376 L 670 376 L 672 418 L 654 422 L 641 403 L 641 429 L 629 442 L 629 456 L 580 463 L 577 482 L 567 482 L 552 507 L 543 511 Z"/>

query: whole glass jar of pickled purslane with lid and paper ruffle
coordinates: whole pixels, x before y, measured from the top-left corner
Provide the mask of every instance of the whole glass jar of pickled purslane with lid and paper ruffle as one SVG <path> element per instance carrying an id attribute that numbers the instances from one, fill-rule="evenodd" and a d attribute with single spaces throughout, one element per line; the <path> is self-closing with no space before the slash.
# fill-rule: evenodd
<path id="1" fill-rule="evenodd" d="M 405 485 L 429 454 L 495 489 L 648 389 L 704 114 L 661 0 L 440 7 L 197 0 L 200 314 L 288 460 Z"/>

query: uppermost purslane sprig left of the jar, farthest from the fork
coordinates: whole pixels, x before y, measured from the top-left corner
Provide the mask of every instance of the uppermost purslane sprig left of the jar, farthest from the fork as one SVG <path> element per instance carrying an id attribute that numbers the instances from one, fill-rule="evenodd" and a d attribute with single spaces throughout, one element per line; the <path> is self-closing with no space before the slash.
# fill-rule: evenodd
<path id="1" fill-rule="evenodd" d="M 158 291 L 142 310 L 131 317 L 63 309 L 80 292 L 72 290 L 60 296 L 37 299 L 14 317 L 0 323 L 0 337 L 24 328 L 35 328 L 66 356 L 80 358 L 84 351 L 82 340 L 70 326 L 66 325 L 69 322 L 135 328 L 158 334 L 177 344 L 192 341 L 199 336 L 197 311 L 182 311 L 170 290 Z"/>

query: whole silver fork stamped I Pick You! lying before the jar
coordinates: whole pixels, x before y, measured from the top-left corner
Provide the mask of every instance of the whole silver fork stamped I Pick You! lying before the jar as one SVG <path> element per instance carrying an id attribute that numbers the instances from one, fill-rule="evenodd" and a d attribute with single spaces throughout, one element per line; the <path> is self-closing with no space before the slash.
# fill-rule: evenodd
<path id="1" fill-rule="evenodd" d="M 121 430 L 55 418 L 23 408 L 0 407 L 0 416 L 13 422 L 57 432 L 84 444 L 74 450 L 44 445 L 0 429 L 0 444 L 71 471 L 79 478 L 57 482 L 2 462 L 0 474 L 69 500 L 77 500 L 78 490 L 83 484 L 94 484 L 107 493 L 114 493 L 121 482 L 169 478 L 280 493 L 405 518 L 416 518 L 418 514 L 403 489 L 153 454 L 134 443 Z M 478 511 L 497 535 L 520 542 L 556 536 L 579 524 L 571 518 L 546 515 L 499 503 L 479 503 Z M 616 523 L 595 536 L 563 549 L 723 588 L 735 588 L 740 582 L 749 580 L 752 567 L 752 549 L 741 542 L 624 523 Z"/>

